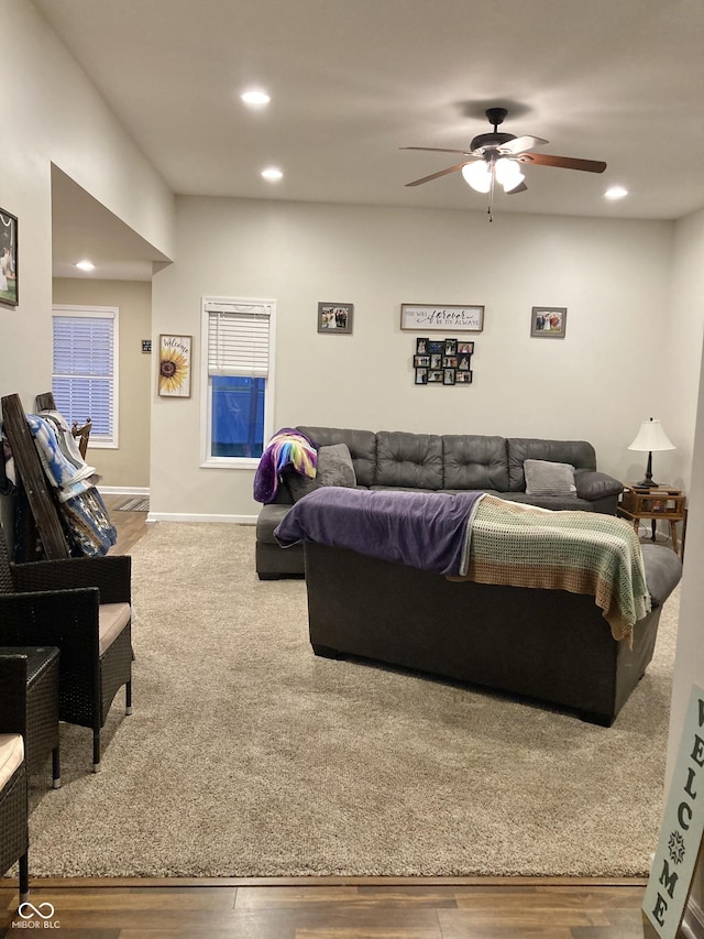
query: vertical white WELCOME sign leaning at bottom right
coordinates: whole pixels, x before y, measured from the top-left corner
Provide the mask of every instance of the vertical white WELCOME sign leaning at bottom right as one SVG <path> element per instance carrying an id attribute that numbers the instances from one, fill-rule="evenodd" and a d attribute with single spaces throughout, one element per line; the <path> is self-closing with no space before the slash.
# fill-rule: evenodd
<path id="1" fill-rule="evenodd" d="M 692 687 L 642 911 L 662 939 L 675 939 L 704 831 L 704 691 Z"/>

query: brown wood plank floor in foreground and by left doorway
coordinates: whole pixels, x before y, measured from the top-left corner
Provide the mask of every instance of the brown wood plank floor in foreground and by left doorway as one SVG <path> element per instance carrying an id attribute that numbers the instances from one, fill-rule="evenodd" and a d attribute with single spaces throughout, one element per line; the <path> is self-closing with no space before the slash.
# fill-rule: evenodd
<path id="1" fill-rule="evenodd" d="M 106 496 L 118 528 L 113 553 L 129 550 L 146 529 L 145 513 L 113 511 L 118 501 Z M 23 919 L 16 882 L 6 878 L 0 881 L 0 937 L 53 928 L 62 939 L 654 939 L 640 911 L 645 883 L 33 878 L 30 899 L 40 911 L 25 907 Z"/>

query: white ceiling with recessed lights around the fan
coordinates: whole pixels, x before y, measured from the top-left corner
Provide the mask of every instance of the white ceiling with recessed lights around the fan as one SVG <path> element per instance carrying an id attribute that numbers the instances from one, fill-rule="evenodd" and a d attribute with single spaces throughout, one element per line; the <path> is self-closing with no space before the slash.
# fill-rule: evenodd
<path id="1" fill-rule="evenodd" d="M 483 211 L 459 173 L 405 186 L 459 155 L 399 148 L 466 149 L 502 105 L 502 130 L 608 165 L 529 167 L 497 215 L 704 207 L 702 0 L 34 3 L 178 194 Z M 253 85 L 265 110 L 240 101 Z M 282 182 L 260 177 L 270 164 Z M 630 195 L 608 203 L 613 184 Z M 59 261 L 61 219 L 56 236 Z"/>

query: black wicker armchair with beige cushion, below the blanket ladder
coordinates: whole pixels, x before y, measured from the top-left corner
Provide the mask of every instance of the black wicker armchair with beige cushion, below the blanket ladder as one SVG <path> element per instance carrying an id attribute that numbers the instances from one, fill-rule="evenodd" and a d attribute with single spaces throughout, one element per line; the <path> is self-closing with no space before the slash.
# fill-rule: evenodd
<path id="1" fill-rule="evenodd" d="M 0 645 L 56 646 L 58 718 L 100 731 L 119 689 L 132 712 L 131 561 L 128 555 L 11 564 L 0 531 Z"/>

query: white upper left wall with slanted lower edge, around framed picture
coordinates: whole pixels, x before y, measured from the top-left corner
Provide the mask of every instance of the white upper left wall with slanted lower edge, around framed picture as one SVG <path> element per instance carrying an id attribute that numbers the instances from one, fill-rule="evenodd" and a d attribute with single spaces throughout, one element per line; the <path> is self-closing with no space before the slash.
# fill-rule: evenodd
<path id="1" fill-rule="evenodd" d="M 0 0 L 0 207 L 19 219 L 16 308 L 0 307 L 0 393 L 51 381 L 54 162 L 170 256 L 174 198 L 28 0 Z"/>

